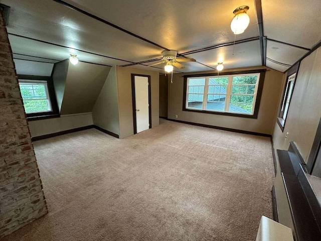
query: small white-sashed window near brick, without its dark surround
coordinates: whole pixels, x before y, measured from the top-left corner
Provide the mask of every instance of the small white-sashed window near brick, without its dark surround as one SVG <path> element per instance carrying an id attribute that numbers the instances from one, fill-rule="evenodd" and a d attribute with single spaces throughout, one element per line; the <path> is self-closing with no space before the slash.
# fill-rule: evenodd
<path id="1" fill-rule="evenodd" d="M 20 80 L 19 86 L 26 113 L 52 111 L 47 81 Z"/>

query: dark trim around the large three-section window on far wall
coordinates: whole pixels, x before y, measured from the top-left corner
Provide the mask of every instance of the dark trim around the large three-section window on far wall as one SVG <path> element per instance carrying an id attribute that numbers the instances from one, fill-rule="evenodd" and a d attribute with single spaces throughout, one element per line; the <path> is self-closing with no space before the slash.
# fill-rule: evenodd
<path id="1" fill-rule="evenodd" d="M 261 102 L 261 95 L 263 91 L 264 85 L 264 77 L 265 77 L 266 69 L 256 69 L 256 70 L 247 70 L 247 71 L 231 71 L 231 72 L 222 72 L 222 76 L 226 75 L 237 75 L 237 74 L 260 74 L 259 82 L 257 85 L 257 92 L 256 92 L 256 100 L 254 104 L 254 111 L 253 114 L 240 114 L 240 113 L 232 113 L 232 112 L 220 112 L 220 111 L 210 111 L 210 110 L 197 110 L 197 109 L 190 109 L 186 108 L 186 97 L 187 97 L 187 79 L 192 77 L 208 77 L 213 76 L 213 74 L 217 73 L 207 73 L 207 74 L 193 74 L 193 75 L 184 75 L 184 88 L 183 88 L 183 111 L 190 111 L 190 112 L 199 112 L 199 113 L 208 113 L 208 114 L 220 114 L 220 115 L 229 115 L 229 116 L 237 116 L 237 117 L 245 117 L 245 118 L 255 118 L 257 119 L 259 106 Z"/>

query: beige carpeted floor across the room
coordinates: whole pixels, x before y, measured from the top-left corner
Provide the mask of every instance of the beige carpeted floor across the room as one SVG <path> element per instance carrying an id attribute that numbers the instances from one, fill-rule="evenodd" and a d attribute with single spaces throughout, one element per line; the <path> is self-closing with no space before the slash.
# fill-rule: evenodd
<path id="1" fill-rule="evenodd" d="M 272 217 L 270 139 L 161 119 L 34 143 L 49 214 L 13 240 L 255 240 Z"/>

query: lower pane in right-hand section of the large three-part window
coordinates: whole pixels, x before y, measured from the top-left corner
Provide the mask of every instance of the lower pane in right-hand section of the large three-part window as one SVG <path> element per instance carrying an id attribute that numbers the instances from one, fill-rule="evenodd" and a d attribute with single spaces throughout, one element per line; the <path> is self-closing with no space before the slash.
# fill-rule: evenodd
<path id="1" fill-rule="evenodd" d="M 231 95 L 229 111 L 237 113 L 252 113 L 253 95 Z"/>

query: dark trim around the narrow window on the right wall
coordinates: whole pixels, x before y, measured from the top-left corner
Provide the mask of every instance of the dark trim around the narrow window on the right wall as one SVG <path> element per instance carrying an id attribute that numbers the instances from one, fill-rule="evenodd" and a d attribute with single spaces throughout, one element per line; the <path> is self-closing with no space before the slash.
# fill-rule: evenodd
<path id="1" fill-rule="evenodd" d="M 288 115 L 288 112 L 287 112 L 285 119 L 282 118 L 282 117 L 283 117 L 283 113 L 284 113 L 284 111 L 282 111 L 283 102 L 286 101 L 287 96 L 288 96 L 288 94 L 289 94 L 289 92 L 287 91 L 288 79 L 289 79 L 289 77 L 291 77 L 293 74 L 295 74 L 295 77 L 294 77 L 294 80 L 293 80 L 294 83 L 293 83 L 292 93 L 291 93 L 291 96 L 290 96 L 290 99 L 289 99 L 289 106 L 288 106 L 288 110 L 289 110 L 290 105 L 291 105 L 291 99 L 292 99 L 292 97 L 293 97 L 293 92 L 294 92 L 294 88 L 295 88 L 295 83 L 296 83 L 296 78 L 297 78 L 297 74 L 298 74 L 299 67 L 300 67 L 300 62 L 298 62 L 298 63 L 296 63 L 295 65 L 293 65 L 293 66 L 287 71 L 287 74 L 286 74 L 286 81 L 285 81 L 285 84 L 284 84 L 283 93 L 282 93 L 282 98 L 281 98 L 281 100 L 280 100 L 279 110 L 278 110 L 277 118 L 276 118 L 276 123 L 277 123 L 277 125 L 280 127 L 282 133 L 283 133 L 283 131 L 284 131 L 284 127 L 285 127 L 285 123 L 286 123 L 286 119 L 287 119 L 287 115 Z"/>

